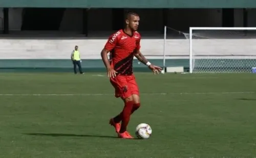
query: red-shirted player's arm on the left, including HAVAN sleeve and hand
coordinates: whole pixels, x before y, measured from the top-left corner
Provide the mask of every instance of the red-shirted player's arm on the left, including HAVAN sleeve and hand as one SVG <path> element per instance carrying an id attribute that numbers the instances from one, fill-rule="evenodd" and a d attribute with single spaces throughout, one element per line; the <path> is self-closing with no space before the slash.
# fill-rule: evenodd
<path id="1" fill-rule="evenodd" d="M 108 53 L 114 49 L 117 43 L 118 34 L 113 34 L 110 36 L 108 41 L 106 42 L 104 48 L 101 50 L 101 59 L 106 67 L 106 70 L 108 71 L 108 77 L 115 77 L 116 76 L 116 71 L 111 67 L 109 59 L 108 59 Z"/>

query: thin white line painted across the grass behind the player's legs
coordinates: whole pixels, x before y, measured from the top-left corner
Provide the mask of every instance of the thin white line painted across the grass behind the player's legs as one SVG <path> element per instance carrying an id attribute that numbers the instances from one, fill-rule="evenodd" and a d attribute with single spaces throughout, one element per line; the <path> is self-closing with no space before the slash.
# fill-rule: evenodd
<path id="1" fill-rule="evenodd" d="M 140 93 L 140 95 L 194 95 L 194 94 L 253 94 L 256 92 L 182 92 L 182 93 Z M 109 96 L 110 93 L 94 94 L 0 94 L 0 96 Z"/>

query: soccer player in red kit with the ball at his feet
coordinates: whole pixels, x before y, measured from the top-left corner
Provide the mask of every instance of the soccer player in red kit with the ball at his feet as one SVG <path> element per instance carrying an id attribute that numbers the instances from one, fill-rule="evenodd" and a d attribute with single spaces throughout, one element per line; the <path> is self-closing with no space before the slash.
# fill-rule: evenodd
<path id="1" fill-rule="evenodd" d="M 133 74 L 133 57 L 147 65 L 154 74 L 162 68 L 148 62 L 140 52 L 139 15 L 129 12 L 125 18 L 125 29 L 111 35 L 101 51 L 102 61 L 108 71 L 110 82 L 115 88 L 115 96 L 121 97 L 124 107 L 120 114 L 110 119 L 119 138 L 132 139 L 126 130 L 133 114 L 140 107 L 139 88 Z M 108 59 L 110 52 L 111 60 Z M 120 124 L 120 122 L 122 123 Z"/>

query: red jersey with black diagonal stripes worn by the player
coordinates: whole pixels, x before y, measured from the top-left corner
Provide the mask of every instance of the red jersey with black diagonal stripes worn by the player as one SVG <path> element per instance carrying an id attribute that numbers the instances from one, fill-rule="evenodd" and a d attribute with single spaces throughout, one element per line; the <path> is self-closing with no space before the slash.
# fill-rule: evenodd
<path id="1" fill-rule="evenodd" d="M 135 31 L 132 36 L 119 30 L 111 35 L 105 44 L 105 49 L 110 50 L 110 65 L 118 74 L 133 73 L 134 50 L 140 49 L 140 34 Z"/>

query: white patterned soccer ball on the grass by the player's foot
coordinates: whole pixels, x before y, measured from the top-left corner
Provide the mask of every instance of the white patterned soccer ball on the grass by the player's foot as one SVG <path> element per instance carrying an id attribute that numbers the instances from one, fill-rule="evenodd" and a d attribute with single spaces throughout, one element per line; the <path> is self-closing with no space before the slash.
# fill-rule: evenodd
<path id="1" fill-rule="evenodd" d="M 137 125 L 135 134 L 138 139 L 148 139 L 152 134 L 151 126 L 146 123 L 141 123 Z"/>

